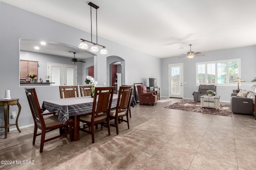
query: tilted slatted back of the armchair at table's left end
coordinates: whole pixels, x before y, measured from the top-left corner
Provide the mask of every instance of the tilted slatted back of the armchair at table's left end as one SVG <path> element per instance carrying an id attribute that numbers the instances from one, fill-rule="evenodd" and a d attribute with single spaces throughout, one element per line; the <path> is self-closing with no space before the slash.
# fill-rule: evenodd
<path id="1" fill-rule="evenodd" d="M 44 125 L 44 118 L 42 116 L 42 110 L 38 102 L 35 88 L 25 88 L 25 92 L 35 123 Z"/>

